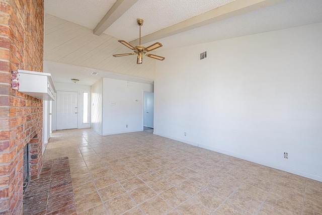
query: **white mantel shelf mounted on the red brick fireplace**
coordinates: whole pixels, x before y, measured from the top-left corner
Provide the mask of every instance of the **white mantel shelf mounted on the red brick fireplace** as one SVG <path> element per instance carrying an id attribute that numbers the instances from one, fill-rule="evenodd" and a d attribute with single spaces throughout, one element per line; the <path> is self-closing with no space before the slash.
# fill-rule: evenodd
<path id="1" fill-rule="evenodd" d="M 18 69 L 19 92 L 41 100 L 55 100 L 56 89 L 50 73 Z"/>

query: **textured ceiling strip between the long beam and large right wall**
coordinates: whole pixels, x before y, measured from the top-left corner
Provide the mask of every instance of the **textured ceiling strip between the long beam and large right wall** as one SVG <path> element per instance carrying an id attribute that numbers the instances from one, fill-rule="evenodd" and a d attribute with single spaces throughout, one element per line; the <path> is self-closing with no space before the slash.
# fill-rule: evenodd
<path id="1" fill-rule="evenodd" d="M 322 22 L 321 0 L 288 0 L 275 6 L 215 22 L 159 41 L 162 42 L 163 50 L 165 50 L 318 22 Z"/>

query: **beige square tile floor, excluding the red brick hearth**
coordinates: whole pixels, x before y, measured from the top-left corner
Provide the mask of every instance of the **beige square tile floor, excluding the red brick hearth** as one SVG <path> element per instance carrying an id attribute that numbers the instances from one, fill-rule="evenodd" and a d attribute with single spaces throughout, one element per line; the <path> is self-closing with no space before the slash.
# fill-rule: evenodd
<path id="1" fill-rule="evenodd" d="M 77 214 L 322 214 L 322 182 L 149 132 L 52 133 L 69 158 Z"/>

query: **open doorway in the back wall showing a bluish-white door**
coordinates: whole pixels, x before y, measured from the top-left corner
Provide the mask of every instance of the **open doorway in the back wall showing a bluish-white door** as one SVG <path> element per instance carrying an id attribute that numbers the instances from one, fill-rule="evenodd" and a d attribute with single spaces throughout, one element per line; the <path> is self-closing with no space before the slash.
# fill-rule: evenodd
<path id="1" fill-rule="evenodd" d="M 143 92 L 143 130 L 153 132 L 154 93 Z"/>

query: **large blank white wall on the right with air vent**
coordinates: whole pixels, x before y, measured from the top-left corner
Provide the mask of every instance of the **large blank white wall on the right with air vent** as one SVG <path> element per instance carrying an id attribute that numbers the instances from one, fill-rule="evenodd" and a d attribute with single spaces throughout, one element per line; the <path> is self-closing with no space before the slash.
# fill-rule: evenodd
<path id="1" fill-rule="evenodd" d="M 321 35 L 318 23 L 157 52 L 154 133 L 322 181 Z"/>

